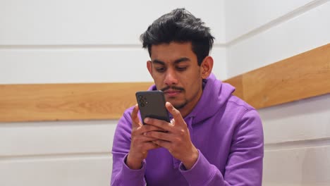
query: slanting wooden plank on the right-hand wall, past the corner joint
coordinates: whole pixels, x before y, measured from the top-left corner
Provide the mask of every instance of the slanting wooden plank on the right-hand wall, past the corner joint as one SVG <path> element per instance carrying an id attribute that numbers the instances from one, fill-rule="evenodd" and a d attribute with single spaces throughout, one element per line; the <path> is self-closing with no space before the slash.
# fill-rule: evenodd
<path id="1" fill-rule="evenodd" d="M 330 44 L 243 74 L 243 99 L 256 109 L 330 93 Z"/>

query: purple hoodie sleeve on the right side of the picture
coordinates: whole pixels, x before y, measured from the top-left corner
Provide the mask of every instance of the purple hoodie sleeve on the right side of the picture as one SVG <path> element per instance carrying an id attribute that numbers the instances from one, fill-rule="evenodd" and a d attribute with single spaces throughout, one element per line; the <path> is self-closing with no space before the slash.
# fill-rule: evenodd
<path id="1" fill-rule="evenodd" d="M 233 132 L 231 151 L 224 173 L 209 163 L 201 152 L 193 168 L 186 171 L 181 164 L 180 169 L 190 185 L 260 186 L 263 156 L 262 123 L 257 111 L 249 109 L 240 116 Z"/>

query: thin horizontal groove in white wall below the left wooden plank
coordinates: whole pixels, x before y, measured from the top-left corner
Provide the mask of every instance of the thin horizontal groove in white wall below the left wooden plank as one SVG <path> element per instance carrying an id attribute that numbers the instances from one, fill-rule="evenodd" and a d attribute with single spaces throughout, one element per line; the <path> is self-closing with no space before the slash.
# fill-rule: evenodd
<path id="1" fill-rule="evenodd" d="M 26 154 L 14 156 L 1 156 L 0 163 L 13 161 L 52 161 L 52 160 L 71 160 L 71 159 L 107 159 L 111 158 L 111 151 L 68 153 L 68 154 Z"/>

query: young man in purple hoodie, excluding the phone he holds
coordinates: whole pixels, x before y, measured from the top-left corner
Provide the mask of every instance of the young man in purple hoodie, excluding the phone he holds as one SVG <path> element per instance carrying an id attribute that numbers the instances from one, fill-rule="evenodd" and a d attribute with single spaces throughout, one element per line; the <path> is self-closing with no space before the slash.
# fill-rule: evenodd
<path id="1" fill-rule="evenodd" d="M 261 185 L 262 123 L 212 74 L 209 28 L 181 8 L 155 20 L 141 40 L 151 58 L 149 90 L 165 93 L 171 123 L 142 125 L 137 105 L 123 113 L 111 185 Z"/>

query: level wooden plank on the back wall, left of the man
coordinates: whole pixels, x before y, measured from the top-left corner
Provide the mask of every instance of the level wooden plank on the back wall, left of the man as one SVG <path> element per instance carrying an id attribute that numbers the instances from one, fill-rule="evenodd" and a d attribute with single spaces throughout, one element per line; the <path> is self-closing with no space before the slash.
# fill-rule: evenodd
<path id="1" fill-rule="evenodd" d="M 0 85 L 0 121 L 117 119 L 151 82 Z"/>

